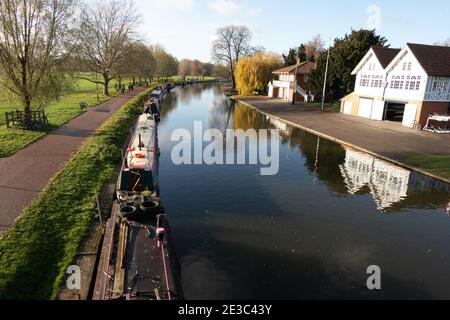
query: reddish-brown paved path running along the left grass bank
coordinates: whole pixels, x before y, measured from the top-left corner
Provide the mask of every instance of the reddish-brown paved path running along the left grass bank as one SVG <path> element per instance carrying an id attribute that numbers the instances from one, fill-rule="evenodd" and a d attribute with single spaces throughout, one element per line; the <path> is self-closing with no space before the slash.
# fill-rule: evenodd
<path id="1" fill-rule="evenodd" d="M 138 88 L 89 109 L 18 153 L 0 159 L 0 233 L 15 221 L 83 142 L 143 90 Z"/>

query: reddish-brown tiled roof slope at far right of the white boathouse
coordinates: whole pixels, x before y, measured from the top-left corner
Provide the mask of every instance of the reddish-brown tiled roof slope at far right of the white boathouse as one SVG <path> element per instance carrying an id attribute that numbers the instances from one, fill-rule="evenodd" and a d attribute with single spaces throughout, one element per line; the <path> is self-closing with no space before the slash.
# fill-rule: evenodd
<path id="1" fill-rule="evenodd" d="M 407 43 L 412 54 L 429 76 L 450 76 L 450 47 Z"/>

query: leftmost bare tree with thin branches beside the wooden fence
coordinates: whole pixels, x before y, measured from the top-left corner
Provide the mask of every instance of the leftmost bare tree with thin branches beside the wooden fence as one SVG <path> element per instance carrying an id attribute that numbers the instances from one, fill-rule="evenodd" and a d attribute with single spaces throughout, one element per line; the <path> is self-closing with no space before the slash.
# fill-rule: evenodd
<path id="1" fill-rule="evenodd" d="M 62 94 L 74 11 L 73 0 L 0 1 L 0 84 L 21 100 L 26 122 L 33 102 Z"/>

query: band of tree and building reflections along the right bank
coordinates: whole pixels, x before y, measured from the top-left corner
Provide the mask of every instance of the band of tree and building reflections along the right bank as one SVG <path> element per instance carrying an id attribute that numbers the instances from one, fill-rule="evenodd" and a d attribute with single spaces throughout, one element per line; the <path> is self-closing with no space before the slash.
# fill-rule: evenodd
<path id="1" fill-rule="evenodd" d="M 239 103 L 233 119 L 235 129 L 278 129 L 282 143 L 298 148 L 309 171 L 330 190 L 344 196 L 370 193 L 380 212 L 411 206 L 446 208 L 450 185 L 445 182 L 321 139 Z"/>

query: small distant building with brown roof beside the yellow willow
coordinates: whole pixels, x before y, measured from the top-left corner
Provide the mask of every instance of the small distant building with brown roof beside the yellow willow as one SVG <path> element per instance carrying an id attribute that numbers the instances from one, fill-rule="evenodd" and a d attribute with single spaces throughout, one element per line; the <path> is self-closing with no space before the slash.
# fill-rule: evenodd
<path id="1" fill-rule="evenodd" d="M 314 62 L 306 61 L 274 71 L 273 73 L 278 77 L 278 80 L 269 83 L 269 97 L 284 99 L 289 102 L 292 101 L 295 89 L 296 101 L 314 101 L 314 96 L 309 88 L 309 75 L 315 68 Z"/>

